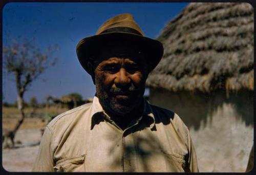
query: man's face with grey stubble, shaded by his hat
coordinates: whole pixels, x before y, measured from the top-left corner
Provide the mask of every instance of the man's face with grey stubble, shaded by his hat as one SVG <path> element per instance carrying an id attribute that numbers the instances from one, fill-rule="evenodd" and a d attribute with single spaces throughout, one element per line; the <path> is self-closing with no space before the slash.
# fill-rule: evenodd
<path id="1" fill-rule="evenodd" d="M 100 50 L 95 69 L 95 85 L 105 110 L 117 115 L 132 112 L 142 100 L 147 78 L 143 54 L 135 46 L 120 42 Z"/>

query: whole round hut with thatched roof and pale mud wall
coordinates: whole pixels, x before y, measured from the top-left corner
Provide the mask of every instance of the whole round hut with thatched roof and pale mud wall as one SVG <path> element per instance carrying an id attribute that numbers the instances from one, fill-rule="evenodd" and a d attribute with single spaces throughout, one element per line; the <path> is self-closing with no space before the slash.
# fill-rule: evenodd
<path id="1" fill-rule="evenodd" d="M 190 3 L 157 38 L 164 55 L 148 76 L 152 104 L 189 127 L 200 171 L 245 171 L 253 144 L 253 8 Z"/>

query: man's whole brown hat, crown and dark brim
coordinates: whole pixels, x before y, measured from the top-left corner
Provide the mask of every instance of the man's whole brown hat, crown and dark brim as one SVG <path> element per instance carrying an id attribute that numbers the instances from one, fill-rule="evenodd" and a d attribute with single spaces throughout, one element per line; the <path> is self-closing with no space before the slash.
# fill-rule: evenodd
<path id="1" fill-rule="evenodd" d="M 113 39 L 136 43 L 141 47 L 152 71 L 163 56 L 163 45 L 155 39 L 144 36 L 134 21 L 132 14 L 124 13 L 112 17 L 99 27 L 96 35 L 83 38 L 76 46 L 76 53 L 84 70 L 89 74 L 88 58 L 97 52 L 106 42 Z"/>

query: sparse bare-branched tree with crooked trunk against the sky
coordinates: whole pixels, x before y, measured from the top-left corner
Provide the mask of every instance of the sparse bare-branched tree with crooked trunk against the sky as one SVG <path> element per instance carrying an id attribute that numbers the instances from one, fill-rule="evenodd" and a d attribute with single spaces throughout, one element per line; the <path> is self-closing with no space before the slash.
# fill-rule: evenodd
<path id="1" fill-rule="evenodd" d="M 6 137 L 10 138 L 12 143 L 14 143 L 15 134 L 25 118 L 24 93 L 39 75 L 56 63 L 57 58 L 52 58 L 52 53 L 56 49 L 57 46 L 50 46 L 45 52 L 41 52 L 38 47 L 27 39 L 18 42 L 14 40 L 10 45 L 4 47 L 3 67 L 15 77 L 17 107 L 22 116 L 14 129 L 6 132 Z"/>

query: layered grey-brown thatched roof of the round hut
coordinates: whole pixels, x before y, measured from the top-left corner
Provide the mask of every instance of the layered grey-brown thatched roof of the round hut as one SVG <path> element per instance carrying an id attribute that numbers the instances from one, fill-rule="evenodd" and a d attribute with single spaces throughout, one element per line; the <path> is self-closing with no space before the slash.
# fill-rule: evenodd
<path id="1" fill-rule="evenodd" d="M 147 86 L 169 91 L 253 90 L 253 8 L 190 3 L 157 38 L 164 55 Z"/>

